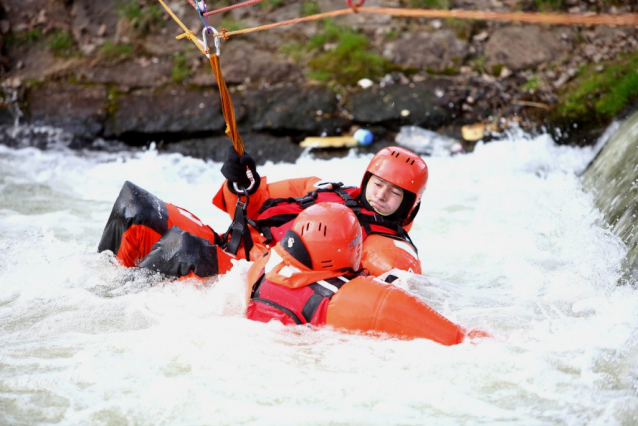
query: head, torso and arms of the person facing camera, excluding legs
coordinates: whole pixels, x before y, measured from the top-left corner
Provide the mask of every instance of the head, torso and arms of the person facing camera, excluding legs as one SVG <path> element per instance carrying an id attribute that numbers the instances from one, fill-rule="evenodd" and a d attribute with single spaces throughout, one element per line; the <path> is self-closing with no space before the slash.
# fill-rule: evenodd
<path id="1" fill-rule="evenodd" d="M 252 180 L 246 170 L 250 170 Z M 227 180 L 215 195 L 214 205 L 237 217 L 237 202 L 241 205 L 242 197 L 249 199 L 243 210 L 249 220 L 243 229 L 251 238 L 241 241 L 249 240 L 253 246 L 248 247 L 246 255 L 246 245 L 235 238 L 239 248 L 230 247 L 230 251 L 238 257 L 258 259 L 290 229 L 303 209 L 319 202 L 336 202 L 351 208 L 362 226 L 364 267 L 375 275 L 393 267 L 422 272 L 408 231 L 419 211 L 428 168 L 420 156 L 405 148 L 381 149 L 370 161 L 358 188 L 341 183 L 321 185 L 317 177 L 268 183 L 257 173 L 249 154 L 239 157 L 233 149 L 228 151 L 222 174 Z"/>

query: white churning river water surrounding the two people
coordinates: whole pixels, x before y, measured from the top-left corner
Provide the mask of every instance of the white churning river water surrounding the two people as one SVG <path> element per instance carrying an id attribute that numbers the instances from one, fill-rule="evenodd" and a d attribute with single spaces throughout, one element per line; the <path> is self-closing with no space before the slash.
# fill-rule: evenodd
<path id="1" fill-rule="evenodd" d="M 204 283 L 97 253 L 125 180 L 216 230 L 221 164 L 0 146 L 0 424 L 630 425 L 638 293 L 577 177 L 591 148 L 510 135 L 427 158 L 410 291 L 496 338 L 444 347 L 246 320 Z M 357 185 L 370 156 L 260 167 Z"/>

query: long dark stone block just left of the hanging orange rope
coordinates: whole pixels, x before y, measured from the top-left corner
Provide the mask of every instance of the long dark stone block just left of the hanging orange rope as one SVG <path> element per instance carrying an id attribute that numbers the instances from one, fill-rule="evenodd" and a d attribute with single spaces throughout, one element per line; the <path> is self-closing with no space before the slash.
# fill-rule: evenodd
<path id="1" fill-rule="evenodd" d="M 219 94 L 213 90 L 141 89 L 120 94 L 111 102 L 114 114 L 105 128 L 106 137 L 122 138 L 127 133 L 189 135 L 220 132 L 226 126 Z"/>

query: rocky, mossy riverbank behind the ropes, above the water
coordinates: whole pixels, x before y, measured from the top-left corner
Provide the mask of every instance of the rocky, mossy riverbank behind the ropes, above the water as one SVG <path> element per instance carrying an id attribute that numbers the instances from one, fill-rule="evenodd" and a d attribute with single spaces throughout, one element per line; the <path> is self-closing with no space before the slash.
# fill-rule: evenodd
<path id="1" fill-rule="evenodd" d="M 169 6 L 202 28 L 186 1 Z M 221 7 L 221 4 L 215 4 Z M 368 0 L 366 6 L 630 13 L 602 0 Z M 210 7 L 210 5 L 209 5 Z M 343 8 L 336 0 L 259 5 L 211 17 L 229 31 Z M 227 146 L 208 61 L 152 0 L 0 0 L 0 143 L 21 123 L 61 129 L 71 147 L 146 145 L 220 159 Z M 533 26 L 357 14 L 222 41 L 221 63 L 251 152 L 294 159 L 307 136 L 402 125 L 470 150 L 511 126 L 589 144 L 638 95 L 631 27 Z M 613 96 L 612 96 L 613 95 Z M 31 130 L 33 133 L 33 130 Z M 44 144 L 44 145 L 43 145 Z"/>

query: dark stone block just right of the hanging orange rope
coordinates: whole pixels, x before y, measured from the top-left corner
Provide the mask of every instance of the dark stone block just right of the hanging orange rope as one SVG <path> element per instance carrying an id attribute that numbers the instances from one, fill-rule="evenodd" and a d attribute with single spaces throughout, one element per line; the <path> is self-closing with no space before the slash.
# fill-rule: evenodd
<path id="1" fill-rule="evenodd" d="M 296 135 L 340 134 L 349 122 L 337 111 L 337 99 L 327 88 L 281 87 L 245 94 L 250 128 Z"/>

